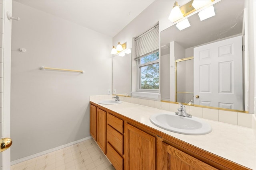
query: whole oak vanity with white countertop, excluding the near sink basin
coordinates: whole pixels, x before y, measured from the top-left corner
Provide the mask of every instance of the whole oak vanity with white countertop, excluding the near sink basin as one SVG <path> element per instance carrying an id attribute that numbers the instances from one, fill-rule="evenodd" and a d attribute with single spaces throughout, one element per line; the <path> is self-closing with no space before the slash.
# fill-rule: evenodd
<path id="1" fill-rule="evenodd" d="M 212 126 L 211 133 L 183 135 L 150 122 L 151 115 L 169 111 L 98 102 L 90 101 L 90 133 L 116 170 L 256 168 L 252 129 L 204 119 Z"/>

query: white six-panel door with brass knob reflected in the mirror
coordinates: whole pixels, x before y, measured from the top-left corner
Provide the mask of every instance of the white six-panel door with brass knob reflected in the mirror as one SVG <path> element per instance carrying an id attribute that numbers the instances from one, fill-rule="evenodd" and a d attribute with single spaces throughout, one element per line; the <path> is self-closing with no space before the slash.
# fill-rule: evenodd
<path id="1" fill-rule="evenodd" d="M 242 36 L 195 47 L 194 104 L 242 110 L 242 62 Z"/>

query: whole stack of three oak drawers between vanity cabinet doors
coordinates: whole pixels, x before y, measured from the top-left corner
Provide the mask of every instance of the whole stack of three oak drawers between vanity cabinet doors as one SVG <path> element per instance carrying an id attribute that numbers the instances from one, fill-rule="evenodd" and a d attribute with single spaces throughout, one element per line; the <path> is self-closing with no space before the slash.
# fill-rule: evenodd
<path id="1" fill-rule="evenodd" d="M 116 170 L 124 169 L 124 121 L 107 113 L 106 156 Z"/>

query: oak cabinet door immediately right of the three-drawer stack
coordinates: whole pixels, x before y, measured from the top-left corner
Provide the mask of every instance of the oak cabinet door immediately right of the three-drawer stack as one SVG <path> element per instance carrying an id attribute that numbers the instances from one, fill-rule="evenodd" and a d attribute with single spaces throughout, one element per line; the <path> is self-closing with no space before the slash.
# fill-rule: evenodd
<path id="1" fill-rule="evenodd" d="M 126 124 L 125 169 L 155 170 L 156 138 Z"/>

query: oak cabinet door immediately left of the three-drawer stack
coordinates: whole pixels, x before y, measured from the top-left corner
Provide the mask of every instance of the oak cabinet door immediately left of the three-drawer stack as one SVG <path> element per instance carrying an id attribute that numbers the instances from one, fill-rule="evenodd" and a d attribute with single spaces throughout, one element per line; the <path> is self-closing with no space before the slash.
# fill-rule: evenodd
<path id="1" fill-rule="evenodd" d="M 97 143 L 106 154 L 106 111 L 97 109 Z"/>

